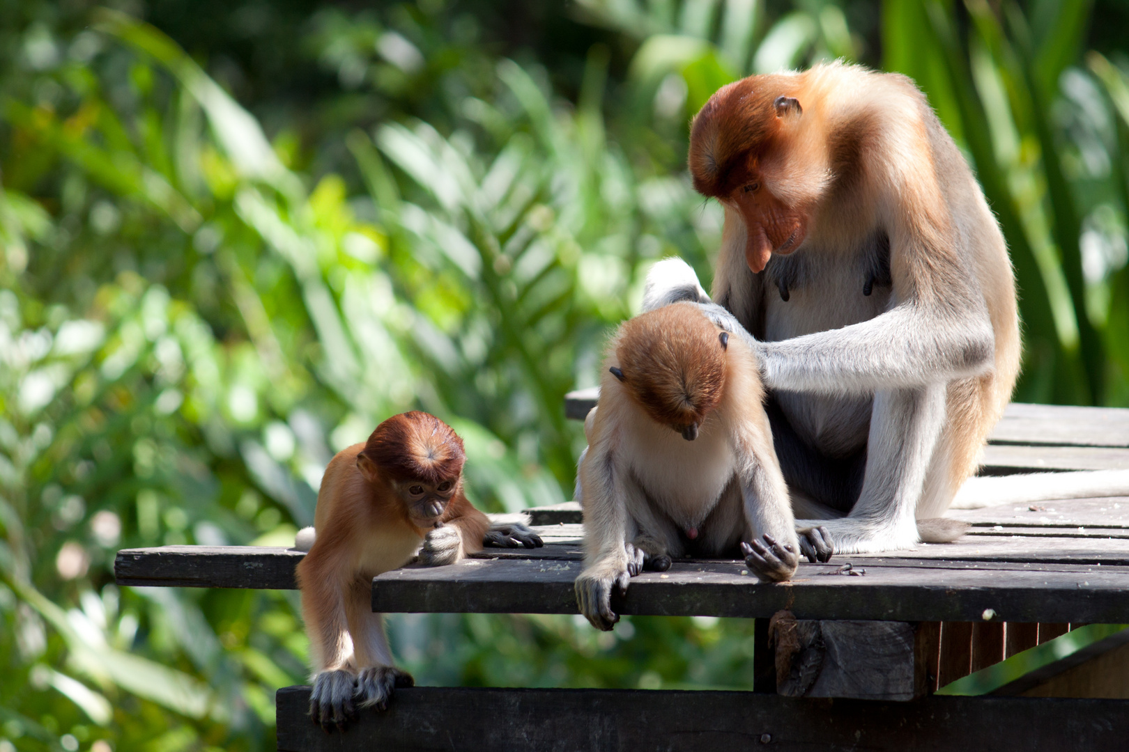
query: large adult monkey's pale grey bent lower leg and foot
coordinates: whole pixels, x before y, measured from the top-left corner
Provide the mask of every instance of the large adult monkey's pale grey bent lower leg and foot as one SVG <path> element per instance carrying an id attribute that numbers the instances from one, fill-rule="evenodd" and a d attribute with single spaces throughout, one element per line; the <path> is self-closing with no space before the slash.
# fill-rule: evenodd
<path id="1" fill-rule="evenodd" d="M 842 554 L 912 548 L 918 542 L 914 511 L 944 423 L 944 384 L 875 393 L 866 477 L 855 508 L 838 520 L 796 524 L 823 527 Z"/>

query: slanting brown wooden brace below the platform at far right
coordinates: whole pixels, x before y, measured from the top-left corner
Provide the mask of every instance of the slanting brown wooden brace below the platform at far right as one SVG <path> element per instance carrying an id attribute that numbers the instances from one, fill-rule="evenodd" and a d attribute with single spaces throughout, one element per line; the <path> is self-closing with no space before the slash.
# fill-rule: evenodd
<path id="1" fill-rule="evenodd" d="M 1129 629 L 1031 671 L 992 695 L 1129 699 Z"/>

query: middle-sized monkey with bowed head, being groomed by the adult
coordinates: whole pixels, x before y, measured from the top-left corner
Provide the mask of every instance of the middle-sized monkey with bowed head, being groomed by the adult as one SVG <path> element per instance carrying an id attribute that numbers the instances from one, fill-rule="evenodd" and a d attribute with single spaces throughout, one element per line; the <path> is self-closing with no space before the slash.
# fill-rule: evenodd
<path id="1" fill-rule="evenodd" d="M 674 285 L 679 302 L 655 300 L 656 286 L 672 293 L 672 274 L 693 282 Z M 832 552 L 819 530 L 797 537 L 744 338 L 706 315 L 697 300 L 708 298 L 684 263 L 656 265 L 647 286 L 645 306 L 655 308 L 624 322 L 607 348 L 577 479 L 585 568 L 576 596 L 605 630 L 619 620 L 612 587 L 622 592 L 645 568 L 669 568 L 672 557 L 739 550 L 760 580 L 780 582 L 795 573 L 802 547 L 812 560 Z"/>

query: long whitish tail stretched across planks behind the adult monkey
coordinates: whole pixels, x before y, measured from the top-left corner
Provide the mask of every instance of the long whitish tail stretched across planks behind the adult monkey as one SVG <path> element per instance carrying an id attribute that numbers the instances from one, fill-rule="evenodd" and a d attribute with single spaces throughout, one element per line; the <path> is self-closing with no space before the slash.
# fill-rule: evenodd
<path id="1" fill-rule="evenodd" d="M 969 478 L 956 492 L 949 508 L 979 510 L 999 504 L 1095 496 L 1129 496 L 1129 470 L 1074 470 Z"/>

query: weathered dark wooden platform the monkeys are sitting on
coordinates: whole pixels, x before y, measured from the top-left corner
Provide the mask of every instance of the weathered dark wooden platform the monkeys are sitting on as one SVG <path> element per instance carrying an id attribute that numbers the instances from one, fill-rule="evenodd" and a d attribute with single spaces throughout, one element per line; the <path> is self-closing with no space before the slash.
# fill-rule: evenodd
<path id="1" fill-rule="evenodd" d="M 584 399 L 570 396 L 570 416 Z M 1012 405 L 986 472 L 1129 469 L 1129 410 Z M 373 609 L 577 613 L 580 510 L 531 511 L 545 546 L 487 549 L 373 581 Z M 742 561 L 675 561 L 613 599 L 623 614 L 755 619 L 751 691 L 397 690 L 344 734 L 278 692 L 280 750 L 1124 750 L 1129 631 L 997 689 L 935 696 L 973 671 L 1087 623 L 1129 623 L 1129 497 L 954 511 L 955 543 L 800 564 L 760 583 Z M 303 554 L 167 546 L 122 550 L 122 585 L 292 589 Z M 778 639 L 769 640 L 774 619 Z M 395 648 L 395 646 L 393 646 Z"/>

